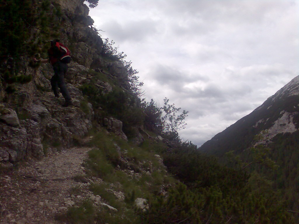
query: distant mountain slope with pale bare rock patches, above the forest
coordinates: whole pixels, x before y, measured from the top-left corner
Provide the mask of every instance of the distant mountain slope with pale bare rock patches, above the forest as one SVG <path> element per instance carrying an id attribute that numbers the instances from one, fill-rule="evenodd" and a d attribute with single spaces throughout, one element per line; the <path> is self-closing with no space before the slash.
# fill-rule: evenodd
<path id="1" fill-rule="evenodd" d="M 242 151 L 253 144 L 255 135 L 262 134 L 258 143 L 275 143 L 277 136 L 285 138 L 299 135 L 299 76 L 269 97 L 262 105 L 243 117 L 200 149 L 222 155 L 227 151 Z"/>

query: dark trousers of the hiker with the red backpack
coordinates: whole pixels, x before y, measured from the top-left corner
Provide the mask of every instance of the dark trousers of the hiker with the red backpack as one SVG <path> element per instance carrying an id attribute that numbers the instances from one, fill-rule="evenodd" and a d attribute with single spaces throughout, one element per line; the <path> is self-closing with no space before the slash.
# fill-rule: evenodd
<path id="1" fill-rule="evenodd" d="M 66 88 L 64 82 L 64 76 L 68 70 L 68 65 L 61 62 L 56 62 L 53 65 L 53 70 L 54 70 L 54 76 L 52 76 L 51 78 L 51 86 L 54 95 L 59 96 L 59 90 L 58 90 L 59 87 L 60 92 L 62 93 L 62 96 L 64 97 L 65 101 L 70 101 L 71 95 L 68 92 L 68 89 Z"/>

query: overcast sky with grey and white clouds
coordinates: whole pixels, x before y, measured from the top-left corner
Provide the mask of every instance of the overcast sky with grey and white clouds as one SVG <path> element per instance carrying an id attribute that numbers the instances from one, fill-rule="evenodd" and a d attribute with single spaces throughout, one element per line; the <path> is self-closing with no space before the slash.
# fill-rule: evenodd
<path id="1" fill-rule="evenodd" d="M 299 75 L 298 0 L 100 0 L 89 15 L 148 101 L 189 111 L 180 136 L 198 146 Z"/>

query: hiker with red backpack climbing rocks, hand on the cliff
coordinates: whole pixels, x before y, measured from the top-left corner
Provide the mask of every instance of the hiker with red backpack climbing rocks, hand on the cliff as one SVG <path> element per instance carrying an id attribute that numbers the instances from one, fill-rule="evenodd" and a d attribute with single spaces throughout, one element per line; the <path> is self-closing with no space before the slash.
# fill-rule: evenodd
<path id="1" fill-rule="evenodd" d="M 54 75 L 51 78 L 51 87 L 55 97 L 59 97 L 59 90 L 65 99 L 62 107 L 68 107 L 72 104 L 71 95 L 66 88 L 64 76 L 68 70 L 68 65 L 71 61 L 70 51 L 67 47 L 60 43 L 58 39 L 51 40 L 51 47 L 48 50 L 48 59 L 40 60 L 40 63 L 51 63 L 54 70 Z M 35 59 L 36 60 L 36 59 Z M 36 60 L 37 61 L 37 60 Z"/>

